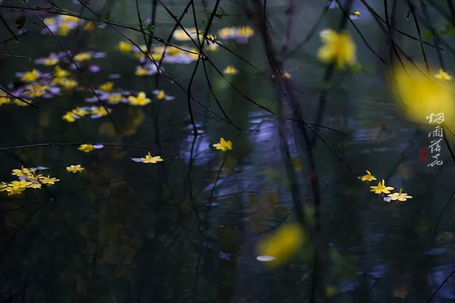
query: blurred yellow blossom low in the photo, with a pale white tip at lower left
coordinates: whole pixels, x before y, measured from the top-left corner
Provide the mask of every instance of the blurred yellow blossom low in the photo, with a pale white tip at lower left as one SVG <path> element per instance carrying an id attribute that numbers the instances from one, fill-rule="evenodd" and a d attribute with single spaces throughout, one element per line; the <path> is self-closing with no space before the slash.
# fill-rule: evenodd
<path id="1" fill-rule="evenodd" d="M 297 223 L 285 223 L 269 238 L 259 241 L 257 260 L 276 266 L 289 260 L 301 247 L 305 233 Z"/>

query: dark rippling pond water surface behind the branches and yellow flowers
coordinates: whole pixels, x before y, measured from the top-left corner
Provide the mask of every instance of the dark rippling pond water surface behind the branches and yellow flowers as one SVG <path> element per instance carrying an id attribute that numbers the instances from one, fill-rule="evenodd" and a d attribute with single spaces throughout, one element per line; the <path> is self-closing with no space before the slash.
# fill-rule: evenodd
<path id="1" fill-rule="evenodd" d="M 152 2 L 139 1 L 144 24 L 151 23 Z M 205 2 L 210 14 L 215 1 Z M 0 107 L 1 147 L 51 143 L 0 149 L 0 181 L 14 180 L 11 170 L 21 166 L 48 167 L 45 175 L 60 179 L 54 186 L 27 188 L 21 195 L 1 193 L 0 302 L 309 302 L 314 300 L 312 292 L 316 292 L 313 302 L 427 302 L 432 297 L 455 270 L 451 203 L 438 220 L 454 191 L 454 161 L 449 150 L 443 146 L 441 166 L 428 167 L 420 161 L 419 149 L 428 147 L 432 127 L 404 119 L 387 87 L 387 68 L 352 26 L 348 30 L 362 68 L 357 72 L 336 70 L 330 80 L 323 80 L 327 67 L 316 57 L 321 46 L 318 33 L 338 26 L 343 16 L 339 9 L 328 9 L 315 35 L 288 53 L 281 51 L 284 41 L 289 40 L 289 50 L 304 41 L 326 3 L 295 4 L 294 25 L 286 38 L 288 1 L 267 2 L 272 42 L 291 75 L 285 83 L 296 89 L 291 88 L 293 98 L 306 122 L 316 122 L 321 93 L 328 92 L 321 124 L 331 129 L 318 130 L 326 143 L 316 139 L 311 150 L 319 180 L 320 230 L 314 231 L 311 216 L 315 211 L 310 182 L 314 174 L 309 176 L 309 151 L 298 131 L 299 122 L 280 124 L 277 115 L 247 99 L 274 113 L 279 112 L 279 102 L 285 102 L 271 77 L 257 23 L 242 9 L 245 5 L 257 10 L 255 1 L 221 1 L 228 16 L 215 17 L 210 32 L 216 34 L 225 26 L 252 26 L 255 34 L 247 43 L 222 43 L 258 70 L 228 50 L 210 52 L 210 60 L 219 70 L 227 65 L 239 70 L 228 77 L 232 87 L 208 60 L 199 63 L 191 87 L 197 100 L 191 100 L 199 134 L 196 139 L 186 94 L 195 60 L 164 62 L 164 70 L 174 80 L 157 75 L 138 77 L 134 71 L 141 63 L 132 53 L 117 50 L 119 41 L 126 40 L 108 25 L 85 31 L 80 24 L 68 36 L 55 36 L 60 45 L 45 33 L 33 11 L 27 10 L 23 29 L 30 32 L 20 36 L 18 43 L 4 43 L 0 50 L 4 55 L 0 57 L 1 87 L 16 90 L 23 85 L 16 73 L 33 68 L 51 73 L 52 66 L 33 60 L 52 52 L 92 51 L 105 52 L 105 56 L 80 63 L 84 77 L 70 63 L 62 63 L 79 84 L 33 101 L 39 109 L 11 104 Z M 368 2 L 383 15 L 382 1 Z M 187 4 L 180 0 L 164 3 L 176 16 Z M 198 26 L 203 27 L 203 19 L 210 15 L 201 1 L 195 4 Z M 56 1 L 55 5 L 96 19 L 72 1 Z M 51 4 L 1 2 L 1 16 L 14 28 L 21 11 L 1 6 L 48 8 Z M 139 26 L 135 1 L 91 1 L 89 7 L 102 14 L 111 11 L 112 22 Z M 157 7 L 153 33 L 166 40 L 173 19 L 162 6 Z M 354 1 L 355 9 L 362 14 L 355 24 L 370 46 L 388 60 L 387 36 L 360 1 Z M 400 2 L 397 11 L 397 27 L 417 35 L 414 23 L 405 18 L 405 4 Z M 41 18 L 55 16 L 38 14 Z M 191 9 L 182 23 L 194 26 Z M 0 41 L 4 41 L 11 34 L 1 26 Z M 144 44 L 140 32 L 114 28 Z M 194 48 L 191 41 L 171 43 Z M 422 61 L 418 41 L 399 36 L 397 43 Z M 152 46 L 159 44 L 154 40 Z M 450 71 L 453 56 L 444 55 Z M 437 63 L 437 53 L 431 48 L 428 56 L 430 63 Z M 100 71 L 92 73 L 90 65 L 97 65 Z M 232 124 L 242 130 L 223 120 L 203 65 L 220 104 Z M 77 106 L 87 106 L 85 99 L 92 97 L 85 80 L 95 89 L 110 80 L 114 90 L 125 95 L 146 92 L 151 103 L 144 107 L 107 104 L 121 134 L 107 116 L 69 123 L 62 116 Z M 175 99 L 156 100 L 153 91 L 158 89 Z M 88 104 L 92 105 L 99 104 Z M 284 116 L 293 117 L 287 105 Z M 231 151 L 212 147 L 220 137 L 232 140 Z M 453 144 L 451 135 L 449 140 Z M 77 150 L 82 142 L 105 147 L 85 154 Z M 288 156 L 282 152 L 283 144 L 289 147 Z M 147 151 L 164 161 L 132 161 Z M 294 180 L 289 179 L 286 163 L 291 164 Z M 70 164 L 81 164 L 85 170 L 70 174 L 65 169 Z M 365 185 L 358 179 L 366 169 L 378 181 L 383 178 L 413 198 L 405 203 L 383 201 L 369 191 L 368 186 L 378 181 Z M 257 260 L 257 245 L 283 223 L 296 222 L 292 184 L 304 205 L 307 220 L 302 229 L 307 243 L 289 260 L 270 267 Z M 454 276 L 432 302 L 455 300 Z"/>

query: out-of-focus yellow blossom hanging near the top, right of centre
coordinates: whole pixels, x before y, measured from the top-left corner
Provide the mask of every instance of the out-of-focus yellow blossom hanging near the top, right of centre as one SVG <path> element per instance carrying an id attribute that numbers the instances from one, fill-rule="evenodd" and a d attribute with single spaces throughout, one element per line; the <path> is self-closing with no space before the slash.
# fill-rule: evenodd
<path id="1" fill-rule="evenodd" d="M 320 33 L 323 46 L 319 48 L 318 58 L 323 63 L 335 63 L 337 68 L 355 63 L 355 44 L 347 31 L 336 33 L 325 29 Z"/>

